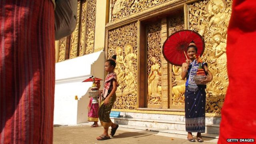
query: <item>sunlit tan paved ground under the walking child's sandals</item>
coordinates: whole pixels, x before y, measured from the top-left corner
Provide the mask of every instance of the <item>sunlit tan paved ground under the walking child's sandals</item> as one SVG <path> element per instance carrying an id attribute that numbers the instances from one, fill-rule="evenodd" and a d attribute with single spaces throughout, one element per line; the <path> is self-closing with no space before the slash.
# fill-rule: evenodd
<path id="1" fill-rule="evenodd" d="M 110 129 L 111 130 L 111 129 Z M 110 133 L 109 130 L 109 133 Z M 188 142 L 186 136 L 151 132 L 148 130 L 136 130 L 130 128 L 118 128 L 116 134 L 110 140 L 98 141 L 97 136 L 102 134 L 103 128 L 91 128 L 89 124 L 78 126 L 55 126 L 54 144 L 199 144 Z M 216 144 L 217 139 L 204 138 L 200 144 Z"/>

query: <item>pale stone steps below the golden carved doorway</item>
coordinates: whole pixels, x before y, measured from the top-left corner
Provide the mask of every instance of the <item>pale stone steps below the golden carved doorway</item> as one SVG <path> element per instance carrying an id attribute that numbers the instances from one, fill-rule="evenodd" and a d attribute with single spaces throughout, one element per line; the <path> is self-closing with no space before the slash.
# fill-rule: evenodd
<path id="1" fill-rule="evenodd" d="M 152 130 L 155 130 L 156 128 L 156 130 L 160 129 L 164 131 L 170 131 L 170 133 L 174 134 L 176 134 L 176 132 L 179 132 L 179 134 L 187 134 L 184 116 L 165 114 L 140 114 L 132 112 L 121 112 L 120 115 L 123 117 L 111 117 L 110 119 L 112 122 L 124 126 L 151 128 Z M 215 136 L 218 136 L 219 134 L 219 122 L 220 120 L 216 120 L 216 117 L 206 117 L 206 134 L 213 134 L 212 138 L 216 138 Z"/>

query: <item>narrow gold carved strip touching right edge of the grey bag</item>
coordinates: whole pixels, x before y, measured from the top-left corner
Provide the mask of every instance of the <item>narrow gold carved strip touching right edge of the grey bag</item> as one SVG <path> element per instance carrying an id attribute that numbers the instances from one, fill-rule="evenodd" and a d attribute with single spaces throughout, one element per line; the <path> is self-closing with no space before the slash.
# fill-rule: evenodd
<path id="1" fill-rule="evenodd" d="M 71 34 L 70 38 L 70 54 L 69 58 L 76 58 L 77 56 L 77 47 L 78 47 L 78 31 L 79 31 L 79 19 L 80 19 L 80 1 L 78 2 L 77 10 L 77 23 L 74 32 Z"/>

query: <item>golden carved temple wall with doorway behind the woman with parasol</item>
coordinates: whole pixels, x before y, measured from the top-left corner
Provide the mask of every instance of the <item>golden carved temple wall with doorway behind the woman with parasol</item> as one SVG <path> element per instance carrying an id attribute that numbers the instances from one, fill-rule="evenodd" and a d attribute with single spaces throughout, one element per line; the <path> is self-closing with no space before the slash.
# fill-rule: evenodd
<path id="1" fill-rule="evenodd" d="M 231 0 L 110 0 L 106 56 L 110 58 L 121 51 L 116 69 L 121 86 L 115 110 L 184 109 L 185 81 L 180 76 L 181 68 L 168 64 L 161 49 L 172 33 L 190 29 L 205 39 L 203 60 L 214 75 L 207 85 L 206 112 L 208 116 L 219 116 L 228 86 L 226 30 L 231 5 Z M 131 44 L 132 56 L 126 54 L 126 44 Z M 125 83 L 125 77 L 135 80 L 134 83 Z"/>

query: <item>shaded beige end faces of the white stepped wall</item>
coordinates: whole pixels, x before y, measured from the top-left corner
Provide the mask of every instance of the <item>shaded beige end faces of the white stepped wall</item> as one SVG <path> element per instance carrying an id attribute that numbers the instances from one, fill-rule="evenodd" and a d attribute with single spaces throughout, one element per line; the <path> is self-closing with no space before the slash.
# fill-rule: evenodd
<path id="1" fill-rule="evenodd" d="M 105 62 L 104 51 L 102 51 L 98 59 L 93 64 L 91 64 L 90 74 L 92 76 L 102 79 L 102 81 L 100 82 L 100 85 L 101 85 L 100 90 L 103 89 L 103 84 L 104 84 L 104 62 Z M 78 100 L 77 124 L 88 122 L 88 104 L 90 101 L 90 98 L 89 98 L 90 91 L 91 91 L 91 87 L 88 87 L 86 94 L 84 94 Z"/>

